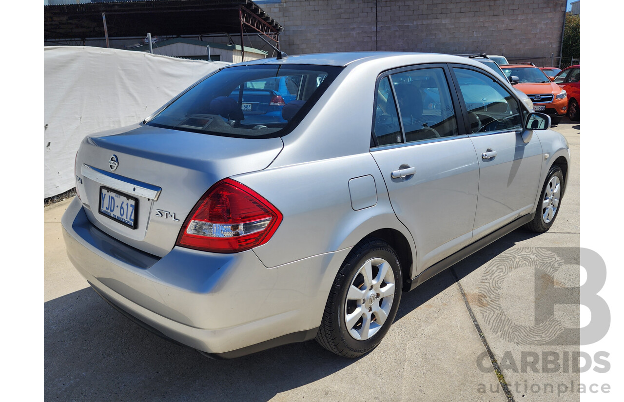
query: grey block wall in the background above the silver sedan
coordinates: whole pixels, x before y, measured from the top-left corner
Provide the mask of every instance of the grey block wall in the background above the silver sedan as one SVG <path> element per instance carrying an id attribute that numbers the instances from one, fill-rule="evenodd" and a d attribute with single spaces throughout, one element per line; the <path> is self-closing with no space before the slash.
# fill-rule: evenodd
<path id="1" fill-rule="evenodd" d="M 281 0 L 260 4 L 288 54 L 394 50 L 559 55 L 565 0 Z"/>

